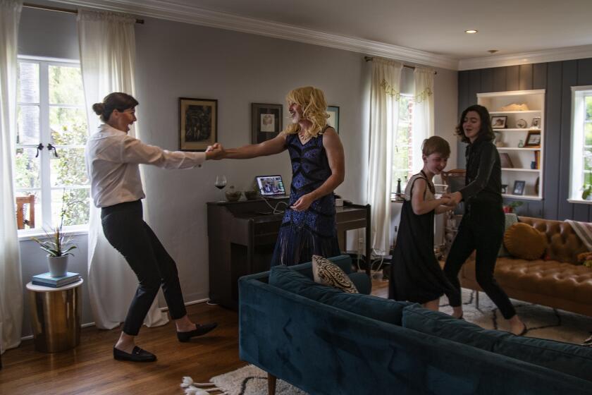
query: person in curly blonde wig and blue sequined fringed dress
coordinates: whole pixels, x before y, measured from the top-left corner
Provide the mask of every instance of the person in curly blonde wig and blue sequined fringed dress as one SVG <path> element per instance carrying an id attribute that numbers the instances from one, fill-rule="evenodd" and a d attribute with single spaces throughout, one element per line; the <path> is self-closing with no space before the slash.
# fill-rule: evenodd
<path id="1" fill-rule="evenodd" d="M 286 99 L 292 123 L 276 138 L 240 148 L 222 148 L 222 156 L 228 159 L 249 159 L 285 150 L 290 153 L 290 202 L 271 266 L 308 262 L 313 254 L 340 254 L 333 190 L 345 178 L 343 145 L 335 129 L 327 125 L 323 91 L 300 87 L 288 93 Z"/>

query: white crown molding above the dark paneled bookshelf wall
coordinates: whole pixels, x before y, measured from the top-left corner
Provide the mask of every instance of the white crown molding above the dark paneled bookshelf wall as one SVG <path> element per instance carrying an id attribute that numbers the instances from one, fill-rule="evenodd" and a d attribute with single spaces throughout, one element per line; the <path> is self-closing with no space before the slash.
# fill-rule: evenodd
<path id="1" fill-rule="evenodd" d="M 567 61 L 571 59 L 592 58 L 592 45 L 545 49 L 543 51 L 523 52 L 521 54 L 485 56 L 482 58 L 461 59 L 458 70 L 474 70 L 520 64 L 546 63 L 551 61 Z"/>

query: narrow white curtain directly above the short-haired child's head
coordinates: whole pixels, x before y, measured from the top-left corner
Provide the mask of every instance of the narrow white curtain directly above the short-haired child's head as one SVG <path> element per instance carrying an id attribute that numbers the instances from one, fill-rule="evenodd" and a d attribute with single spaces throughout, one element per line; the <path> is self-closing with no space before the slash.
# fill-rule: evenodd
<path id="1" fill-rule="evenodd" d="M 413 109 L 413 173 L 424 167 L 421 144 L 433 136 L 433 70 L 416 67 L 415 107 Z"/>

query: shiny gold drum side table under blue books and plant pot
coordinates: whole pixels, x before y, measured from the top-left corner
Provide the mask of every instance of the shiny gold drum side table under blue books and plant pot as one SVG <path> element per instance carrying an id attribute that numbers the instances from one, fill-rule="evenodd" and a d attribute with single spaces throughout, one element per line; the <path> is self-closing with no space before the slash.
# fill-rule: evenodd
<path id="1" fill-rule="evenodd" d="M 80 344 L 83 282 L 59 288 L 27 284 L 35 350 L 56 353 Z"/>

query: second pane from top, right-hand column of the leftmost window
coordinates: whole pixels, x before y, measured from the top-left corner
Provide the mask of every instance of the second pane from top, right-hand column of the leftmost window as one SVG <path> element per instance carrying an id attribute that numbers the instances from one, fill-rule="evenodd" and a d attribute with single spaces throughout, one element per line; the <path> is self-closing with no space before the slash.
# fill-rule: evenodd
<path id="1" fill-rule="evenodd" d="M 83 109 L 51 107 L 49 125 L 54 145 L 85 145 L 87 142 L 87 119 Z"/>

